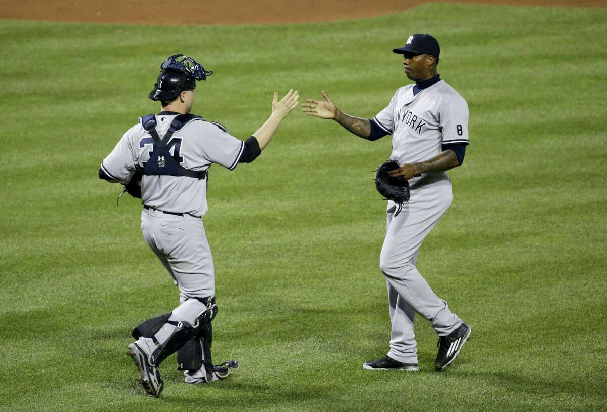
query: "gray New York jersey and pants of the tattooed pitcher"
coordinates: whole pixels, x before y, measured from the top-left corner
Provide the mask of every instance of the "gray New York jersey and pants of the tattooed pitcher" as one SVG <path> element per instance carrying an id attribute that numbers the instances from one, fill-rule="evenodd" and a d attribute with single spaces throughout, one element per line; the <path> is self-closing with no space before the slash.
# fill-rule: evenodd
<path id="1" fill-rule="evenodd" d="M 418 163 L 440 154 L 443 145 L 467 145 L 466 100 L 442 80 L 417 94 L 414 86 L 399 88 L 390 105 L 373 119 L 393 135 L 390 158 L 399 163 Z M 446 301 L 436 296 L 415 267 L 419 247 L 452 202 L 451 182 L 445 172 L 422 174 L 409 182 L 409 203 L 401 206 L 388 202 L 387 233 L 379 267 L 387 282 L 392 323 L 388 356 L 415 364 L 415 312 L 432 321 L 441 336 L 455 331 L 462 321 L 449 310 Z"/>

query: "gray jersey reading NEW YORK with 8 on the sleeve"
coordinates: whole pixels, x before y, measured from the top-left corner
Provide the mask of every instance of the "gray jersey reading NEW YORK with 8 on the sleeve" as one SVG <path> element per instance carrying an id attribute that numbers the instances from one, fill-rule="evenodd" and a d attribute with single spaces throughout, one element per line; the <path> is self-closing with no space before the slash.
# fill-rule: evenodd
<path id="1" fill-rule="evenodd" d="M 466 100 L 444 80 L 416 95 L 413 86 L 399 88 L 390 105 L 373 118 L 392 134 L 390 159 L 423 162 L 441 153 L 442 145 L 467 145 L 470 112 Z"/>

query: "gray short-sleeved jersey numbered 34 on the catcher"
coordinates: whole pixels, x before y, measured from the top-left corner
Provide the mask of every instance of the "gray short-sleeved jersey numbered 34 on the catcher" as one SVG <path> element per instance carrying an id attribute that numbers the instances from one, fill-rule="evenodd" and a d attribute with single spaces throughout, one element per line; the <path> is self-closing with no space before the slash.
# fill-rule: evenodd
<path id="1" fill-rule="evenodd" d="M 162 138 L 177 114 L 157 114 L 156 131 Z M 154 140 L 141 123 L 129 129 L 101 162 L 101 169 L 115 181 L 127 182 L 135 166 L 143 167 L 152 153 Z M 217 163 L 229 170 L 238 165 L 244 142 L 231 136 L 219 123 L 195 118 L 175 131 L 168 142 L 169 153 L 189 170 L 208 170 Z M 141 178 L 141 203 L 163 211 L 205 215 L 206 179 L 195 177 L 144 175 Z"/>

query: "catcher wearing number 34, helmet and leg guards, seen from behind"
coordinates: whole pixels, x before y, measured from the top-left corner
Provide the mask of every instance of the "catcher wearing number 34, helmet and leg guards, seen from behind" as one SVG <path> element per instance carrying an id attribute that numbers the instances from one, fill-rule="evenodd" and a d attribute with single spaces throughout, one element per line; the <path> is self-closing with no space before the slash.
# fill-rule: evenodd
<path id="1" fill-rule="evenodd" d="M 123 193 L 141 199 L 143 238 L 179 289 L 178 306 L 136 326 L 127 350 L 139 382 L 155 397 L 164 388 L 160 365 L 175 352 L 185 383 L 211 383 L 239 367 L 236 360 L 214 365 L 211 357 L 218 309 L 203 224 L 208 171 L 212 164 L 234 170 L 253 162 L 299 104 L 296 90 L 280 100 L 274 92 L 270 117 L 243 141 L 222 124 L 191 114 L 197 81 L 205 81 L 210 70 L 182 54 L 169 57 L 160 70 L 148 97 L 160 102 L 161 111 L 140 117 L 99 171 L 101 179 L 121 183 Z"/>

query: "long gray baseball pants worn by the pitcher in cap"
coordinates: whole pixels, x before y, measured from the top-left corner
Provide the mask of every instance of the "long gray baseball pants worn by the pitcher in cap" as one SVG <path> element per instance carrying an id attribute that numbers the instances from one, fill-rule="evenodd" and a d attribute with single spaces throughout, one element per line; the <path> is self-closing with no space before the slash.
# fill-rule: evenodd
<path id="1" fill-rule="evenodd" d="M 452 199 L 451 182 L 442 174 L 428 176 L 412 185 L 411 199 L 402 210 L 398 211 L 398 206 L 388 202 L 387 233 L 379 267 L 387 281 L 392 322 L 388 356 L 399 362 L 418 363 L 413 332 L 415 312 L 431 321 L 439 336 L 455 331 L 462 322 L 449 311 L 447 302 L 436 296 L 415 267 L 419 247 Z"/>

